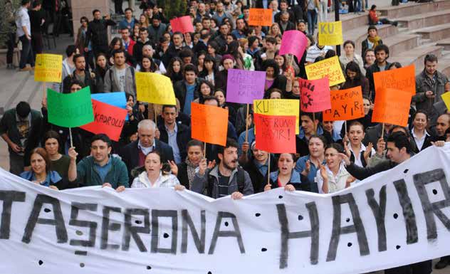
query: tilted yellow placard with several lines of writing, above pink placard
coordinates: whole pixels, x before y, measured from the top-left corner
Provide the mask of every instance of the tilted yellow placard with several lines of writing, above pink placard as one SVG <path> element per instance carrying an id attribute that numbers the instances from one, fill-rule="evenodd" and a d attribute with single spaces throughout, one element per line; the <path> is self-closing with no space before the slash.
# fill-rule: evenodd
<path id="1" fill-rule="evenodd" d="M 330 87 L 345 82 L 344 73 L 340 68 L 338 56 L 321 60 L 305 66 L 308 80 L 316 80 L 328 77 Z"/>

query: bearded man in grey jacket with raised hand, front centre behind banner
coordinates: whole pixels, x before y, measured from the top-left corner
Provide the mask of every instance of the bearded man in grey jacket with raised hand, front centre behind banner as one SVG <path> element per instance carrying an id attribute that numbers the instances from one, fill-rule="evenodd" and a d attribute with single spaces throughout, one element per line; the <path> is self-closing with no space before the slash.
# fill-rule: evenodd
<path id="1" fill-rule="evenodd" d="M 217 199 L 231 195 L 231 199 L 241 199 L 253 194 L 250 176 L 238 167 L 238 143 L 227 139 L 226 146 L 218 147 L 219 165 L 208 169 L 206 159 L 202 159 L 199 170 L 192 181 L 192 191 Z"/>

